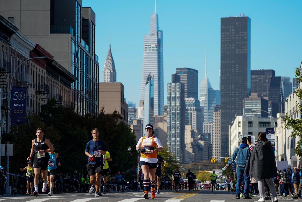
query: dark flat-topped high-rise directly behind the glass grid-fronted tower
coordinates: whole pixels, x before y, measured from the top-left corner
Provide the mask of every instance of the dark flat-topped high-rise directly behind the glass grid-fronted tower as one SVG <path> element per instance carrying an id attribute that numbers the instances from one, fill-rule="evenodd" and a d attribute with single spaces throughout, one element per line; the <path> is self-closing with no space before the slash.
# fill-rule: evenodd
<path id="1" fill-rule="evenodd" d="M 185 85 L 185 98 L 198 99 L 198 70 L 191 68 L 176 68 L 180 82 Z"/>

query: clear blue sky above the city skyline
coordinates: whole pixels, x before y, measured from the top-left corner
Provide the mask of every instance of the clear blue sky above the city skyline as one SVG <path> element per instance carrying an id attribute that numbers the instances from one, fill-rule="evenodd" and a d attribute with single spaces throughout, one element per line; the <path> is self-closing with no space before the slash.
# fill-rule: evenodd
<path id="1" fill-rule="evenodd" d="M 100 81 L 111 50 L 117 82 L 125 86 L 125 98 L 139 105 L 143 62 L 143 38 L 149 32 L 154 0 L 83 0 L 96 14 L 96 54 Z M 251 18 L 251 69 L 273 69 L 276 76 L 294 77 L 302 60 L 301 1 L 201 1 L 157 0 L 159 29 L 163 31 L 165 104 L 167 83 L 177 67 L 197 69 L 219 89 L 220 18 L 245 13 Z"/>

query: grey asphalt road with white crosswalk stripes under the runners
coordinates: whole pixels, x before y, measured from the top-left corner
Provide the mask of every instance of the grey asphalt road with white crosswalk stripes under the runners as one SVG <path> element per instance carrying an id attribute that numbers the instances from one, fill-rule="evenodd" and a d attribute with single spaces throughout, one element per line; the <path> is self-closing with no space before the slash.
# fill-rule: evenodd
<path id="1" fill-rule="evenodd" d="M 259 196 L 255 195 L 251 200 L 246 199 L 245 201 L 257 202 L 258 199 Z M 135 191 L 119 193 L 110 192 L 98 198 L 95 198 L 94 194 L 54 194 L 51 197 L 46 194 L 40 194 L 38 197 L 18 194 L 0 197 L 0 201 L 3 202 L 144 202 L 145 200 L 143 193 Z M 151 199 L 149 194 L 149 199 L 147 200 L 154 202 L 239 202 L 244 199 L 235 199 L 234 192 L 228 193 L 227 191 L 216 191 L 216 193 L 212 193 L 212 191 L 209 190 L 199 190 L 194 192 L 181 191 L 180 193 L 175 193 L 174 191 L 161 191 L 160 194 L 156 194 L 155 199 Z M 281 197 L 279 198 L 279 201 L 285 202 L 301 200 Z"/>

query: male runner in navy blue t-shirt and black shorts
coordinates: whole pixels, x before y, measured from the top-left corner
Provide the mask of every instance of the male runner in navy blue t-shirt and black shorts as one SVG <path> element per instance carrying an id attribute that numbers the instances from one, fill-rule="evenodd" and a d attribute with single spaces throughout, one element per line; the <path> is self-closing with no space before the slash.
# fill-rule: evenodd
<path id="1" fill-rule="evenodd" d="M 92 129 L 91 135 L 93 137 L 90 140 L 85 149 L 85 155 L 88 156 L 87 171 L 90 177 L 90 187 L 89 193 L 92 194 L 95 189 L 95 197 L 98 197 L 98 190 L 101 184 L 100 177 L 103 169 L 103 154 L 106 154 L 105 143 L 98 138 L 98 129 Z"/>

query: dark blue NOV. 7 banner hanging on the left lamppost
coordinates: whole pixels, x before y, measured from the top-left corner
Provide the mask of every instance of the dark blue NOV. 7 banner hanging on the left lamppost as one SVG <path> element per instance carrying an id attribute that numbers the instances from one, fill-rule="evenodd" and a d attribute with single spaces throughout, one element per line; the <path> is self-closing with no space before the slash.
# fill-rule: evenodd
<path id="1" fill-rule="evenodd" d="M 26 88 L 13 86 L 11 90 L 11 124 L 25 124 Z"/>

